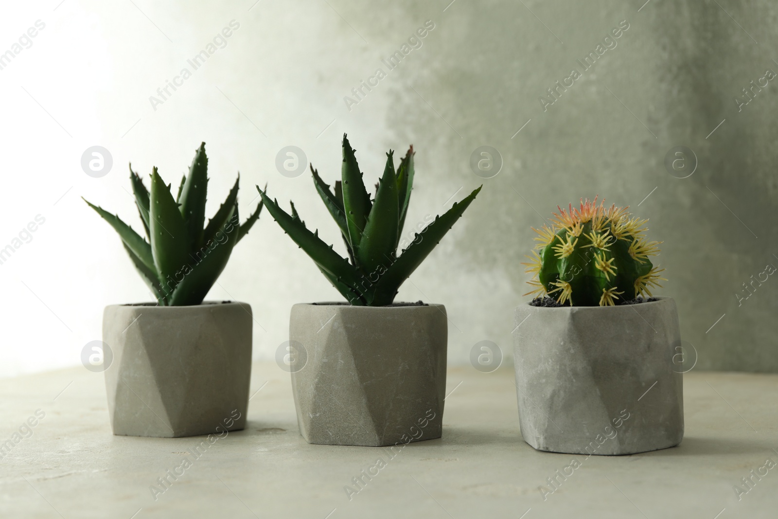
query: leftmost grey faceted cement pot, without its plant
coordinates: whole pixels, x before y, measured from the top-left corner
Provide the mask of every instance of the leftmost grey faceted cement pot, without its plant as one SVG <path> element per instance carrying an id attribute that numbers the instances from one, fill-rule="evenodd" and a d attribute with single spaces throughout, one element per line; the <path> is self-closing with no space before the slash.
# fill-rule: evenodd
<path id="1" fill-rule="evenodd" d="M 247 303 L 106 307 L 103 342 L 114 359 L 105 383 L 114 434 L 185 437 L 216 433 L 219 426 L 243 429 L 251 324 Z"/>

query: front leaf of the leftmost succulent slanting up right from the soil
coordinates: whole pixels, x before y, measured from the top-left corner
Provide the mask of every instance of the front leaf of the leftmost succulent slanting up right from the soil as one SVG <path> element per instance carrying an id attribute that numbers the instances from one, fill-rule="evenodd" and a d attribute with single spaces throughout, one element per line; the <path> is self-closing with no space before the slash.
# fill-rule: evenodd
<path id="1" fill-rule="evenodd" d="M 232 211 L 227 217 L 224 233 L 219 241 L 206 241 L 200 251 L 193 254 L 192 261 L 184 267 L 184 277 L 170 296 L 171 306 L 186 306 L 202 303 L 209 290 L 219 279 L 227 261 L 230 259 L 233 247 L 238 243 L 240 234 L 240 218 L 237 214 L 237 205 L 233 205 Z"/>

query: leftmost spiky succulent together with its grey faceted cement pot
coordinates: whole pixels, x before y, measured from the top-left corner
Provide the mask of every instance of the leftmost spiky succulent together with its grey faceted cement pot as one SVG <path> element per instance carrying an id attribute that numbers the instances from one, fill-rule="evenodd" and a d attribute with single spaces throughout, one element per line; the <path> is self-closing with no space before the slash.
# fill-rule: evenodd
<path id="1" fill-rule="evenodd" d="M 156 302 L 117 304 L 103 313 L 103 342 L 113 353 L 105 370 L 114 434 L 184 437 L 240 430 L 251 377 L 251 306 L 205 301 L 233 247 L 259 218 L 243 224 L 238 183 L 205 226 L 205 142 L 177 198 L 156 167 L 151 187 L 130 167 L 145 237 L 118 216 L 89 204 L 119 233 L 124 250 Z M 204 227 L 205 226 L 205 227 Z"/>

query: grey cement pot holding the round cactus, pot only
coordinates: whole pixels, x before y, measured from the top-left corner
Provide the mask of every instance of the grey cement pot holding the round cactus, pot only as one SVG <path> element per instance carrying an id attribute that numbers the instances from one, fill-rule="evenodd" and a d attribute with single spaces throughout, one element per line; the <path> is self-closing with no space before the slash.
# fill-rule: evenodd
<path id="1" fill-rule="evenodd" d="M 683 438 L 678 312 L 668 297 L 617 307 L 516 309 L 521 435 L 539 451 L 634 454 Z"/>

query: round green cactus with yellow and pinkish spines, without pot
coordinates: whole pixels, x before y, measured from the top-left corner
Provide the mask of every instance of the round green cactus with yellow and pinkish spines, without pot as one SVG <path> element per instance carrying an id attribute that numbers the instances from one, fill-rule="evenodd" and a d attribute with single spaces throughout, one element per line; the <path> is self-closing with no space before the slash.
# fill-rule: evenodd
<path id="1" fill-rule="evenodd" d="M 597 197 L 582 199 L 580 208 L 557 209 L 550 227 L 532 228 L 540 243 L 522 264 L 533 274 L 525 296 L 555 294 L 560 304 L 602 307 L 652 296 L 651 289 L 661 287 L 664 268 L 648 257 L 659 254 L 662 242 L 646 239 L 647 219 L 632 217 L 626 207 L 605 207 L 605 200 L 597 205 Z"/>

